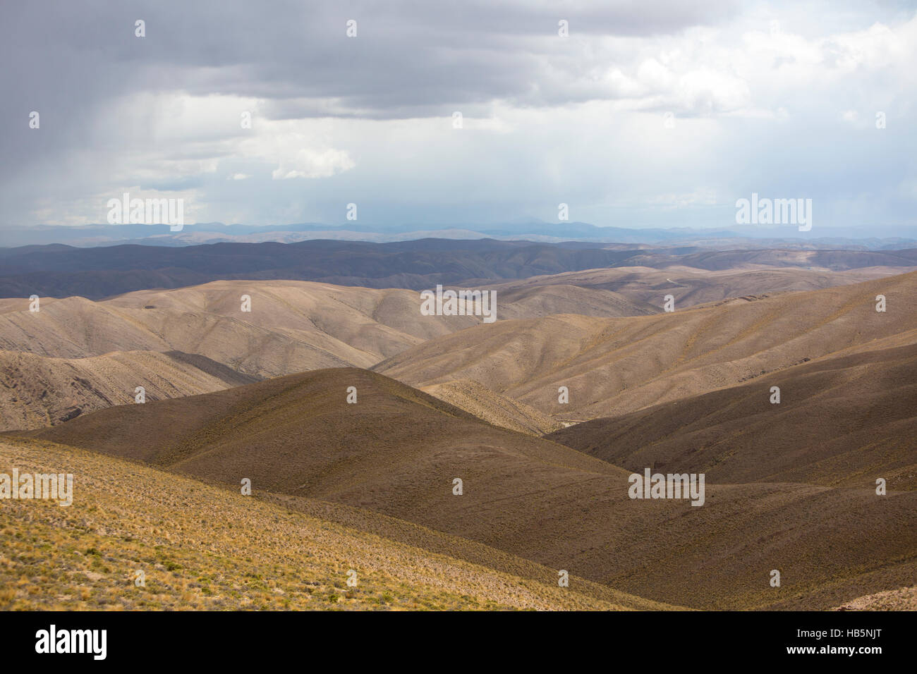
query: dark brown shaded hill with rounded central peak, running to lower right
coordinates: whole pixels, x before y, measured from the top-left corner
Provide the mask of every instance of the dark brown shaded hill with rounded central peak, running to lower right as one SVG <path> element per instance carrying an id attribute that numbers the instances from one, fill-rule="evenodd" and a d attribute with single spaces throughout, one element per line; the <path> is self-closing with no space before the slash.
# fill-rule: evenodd
<path id="1" fill-rule="evenodd" d="M 628 473 L 605 461 L 352 368 L 113 407 L 30 436 L 237 489 L 248 478 L 290 507 L 368 508 L 698 608 L 829 608 L 907 584 L 917 558 L 917 492 L 717 483 L 701 507 L 631 500 Z"/>

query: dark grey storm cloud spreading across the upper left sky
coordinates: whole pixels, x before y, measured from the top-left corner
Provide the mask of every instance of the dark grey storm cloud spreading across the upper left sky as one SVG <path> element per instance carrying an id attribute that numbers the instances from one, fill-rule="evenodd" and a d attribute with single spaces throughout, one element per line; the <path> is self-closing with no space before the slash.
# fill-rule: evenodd
<path id="1" fill-rule="evenodd" d="M 525 99 L 540 57 L 562 63 L 561 18 L 575 45 L 577 36 L 668 33 L 731 12 L 724 2 L 22 3 L 3 10 L 0 53 L 14 65 L 2 76 L 6 92 L 39 103 L 185 88 L 336 98 L 344 115 L 412 116 L 413 106 Z M 134 37 L 138 18 L 146 39 Z M 351 18 L 357 39 L 345 37 Z M 551 103 L 564 102 L 555 95 Z"/>

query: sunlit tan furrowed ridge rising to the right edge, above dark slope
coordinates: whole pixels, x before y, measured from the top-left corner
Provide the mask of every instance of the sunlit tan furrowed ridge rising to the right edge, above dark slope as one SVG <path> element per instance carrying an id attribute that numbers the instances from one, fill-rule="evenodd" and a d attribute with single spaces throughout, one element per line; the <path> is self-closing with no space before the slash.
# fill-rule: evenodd
<path id="1" fill-rule="evenodd" d="M 887 311 L 876 311 L 883 294 Z M 414 386 L 480 381 L 562 421 L 613 416 L 732 386 L 842 350 L 917 335 L 917 272 L 674 313 L 556 315 L 475 326 L 373 367 Z M 569 403 L 558 402 L 558 388 Z"/>

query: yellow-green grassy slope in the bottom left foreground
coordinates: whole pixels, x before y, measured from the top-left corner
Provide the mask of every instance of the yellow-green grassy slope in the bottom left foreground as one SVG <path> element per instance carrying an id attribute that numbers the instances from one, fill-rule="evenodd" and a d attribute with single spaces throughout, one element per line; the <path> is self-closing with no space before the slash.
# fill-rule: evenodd
<path id="1" fill-rule="evenodd" d="M 74 496 L 4 503 L 0 610 L 624 608 L 585 581 L 558 588 L 550 569 L 493 571 L 72 447 L 0 441 L 13 467 L 71 472 Z"/>

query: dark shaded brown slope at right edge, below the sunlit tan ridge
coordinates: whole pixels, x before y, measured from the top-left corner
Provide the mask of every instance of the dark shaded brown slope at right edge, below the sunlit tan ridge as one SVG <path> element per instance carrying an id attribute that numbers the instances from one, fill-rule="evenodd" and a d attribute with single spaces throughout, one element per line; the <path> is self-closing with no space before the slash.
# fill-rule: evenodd
<path id="1" fill-rule="evenodd" d="M 779 403 L 772 403 L 773 387 Z M 548 436 L 629 470 L 917 489 L 917 344 L 815 360 Z"/>

